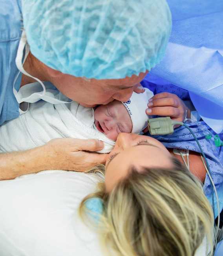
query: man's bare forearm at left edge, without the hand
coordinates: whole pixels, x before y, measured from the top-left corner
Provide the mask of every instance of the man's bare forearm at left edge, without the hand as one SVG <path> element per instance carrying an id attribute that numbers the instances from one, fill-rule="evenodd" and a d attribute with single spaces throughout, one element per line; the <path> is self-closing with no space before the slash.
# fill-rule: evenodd
<path id="1" fill-rule="evenodd" d="M 44 146 L 26 151 L 0 154 L 0 180 L 11 180 L 22 174 L 37 173 L 48 169 Z"/>

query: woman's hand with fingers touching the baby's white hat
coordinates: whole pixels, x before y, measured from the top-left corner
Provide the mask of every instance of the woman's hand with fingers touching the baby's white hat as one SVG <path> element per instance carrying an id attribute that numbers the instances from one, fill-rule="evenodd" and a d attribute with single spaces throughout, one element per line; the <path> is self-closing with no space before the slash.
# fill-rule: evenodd
<path id="1" fill-rule="evenodd" d="M 188 108 L 183 101 L 172 93 L 158 93 L 148 103 L 147 115 L 168 116 L 182 122 L 186 118 Z"/>

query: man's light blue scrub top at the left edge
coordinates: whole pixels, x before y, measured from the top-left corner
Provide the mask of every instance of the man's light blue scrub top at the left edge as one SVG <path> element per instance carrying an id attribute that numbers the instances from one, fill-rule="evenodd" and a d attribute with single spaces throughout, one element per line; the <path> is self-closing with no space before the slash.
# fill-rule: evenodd
<path id="1" fill-rule="evenodd" d="M 19 116 L 13 82 L 19 72 L 15 58 L 21 34 L 21 0 L 0 0 L 0 125 Z M 15 85 L 17 90 L 20 82 L 21 75 Z"/>

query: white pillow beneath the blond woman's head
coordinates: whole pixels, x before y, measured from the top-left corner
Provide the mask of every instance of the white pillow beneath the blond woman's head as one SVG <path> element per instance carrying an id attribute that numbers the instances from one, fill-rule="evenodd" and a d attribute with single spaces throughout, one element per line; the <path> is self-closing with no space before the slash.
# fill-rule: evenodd
<path id="1" fill-rule="evenodd" d="M 1 256 L 102 256 L 78 215 L 95 191 L 93 174 L 43 171 L 0 182 Z"/>

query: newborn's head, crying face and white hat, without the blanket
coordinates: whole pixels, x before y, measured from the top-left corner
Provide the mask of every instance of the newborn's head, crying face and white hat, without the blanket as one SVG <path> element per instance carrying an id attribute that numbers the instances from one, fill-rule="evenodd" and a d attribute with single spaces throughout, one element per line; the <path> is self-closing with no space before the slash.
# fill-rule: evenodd
<path id="1" fill-rule="evenodd" d="M 152 96 L 153 93 L 145 89 L 144 93 L 133 93 L 127 102 L 114 100 L 97 107 L 94 112 L 95 127 L 114 141 L 121 132 L 140 133 L 147 126 L 145 109 Z"/>

